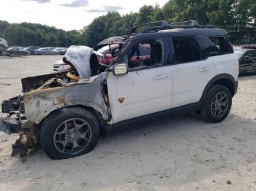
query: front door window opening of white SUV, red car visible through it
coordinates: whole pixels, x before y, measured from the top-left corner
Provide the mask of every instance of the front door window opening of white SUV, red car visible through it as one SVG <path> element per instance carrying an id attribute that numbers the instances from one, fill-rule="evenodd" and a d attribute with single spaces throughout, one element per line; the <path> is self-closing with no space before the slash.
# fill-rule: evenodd
<path id="1" fill-rule="evenodd" d="M 125 56 L 129 69 L 146 69 L 164 63 L 164 40 L 147 39 L 136 43 Z"/>

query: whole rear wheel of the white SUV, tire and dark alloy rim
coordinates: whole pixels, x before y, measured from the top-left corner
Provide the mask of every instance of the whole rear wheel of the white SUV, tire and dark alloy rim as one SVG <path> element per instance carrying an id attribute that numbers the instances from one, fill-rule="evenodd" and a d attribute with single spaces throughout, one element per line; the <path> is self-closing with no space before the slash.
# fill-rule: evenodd
<path id="1" fill-rule="evenodd" d="M 208 122 L 221 122 L 230 112 L 232 106 L 232 94 L 223 85 L 212 85 L 206 97 L 200 115 Z"/>

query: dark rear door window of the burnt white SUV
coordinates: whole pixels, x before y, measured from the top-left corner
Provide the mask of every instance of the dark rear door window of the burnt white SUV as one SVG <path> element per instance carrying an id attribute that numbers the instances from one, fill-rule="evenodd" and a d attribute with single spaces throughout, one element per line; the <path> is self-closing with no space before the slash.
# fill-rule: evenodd
<path id="1" fill-rule="evenodd" d="M 200 47 L 192 37 L 173 38 L 176 63 L 200 60 Z"/>

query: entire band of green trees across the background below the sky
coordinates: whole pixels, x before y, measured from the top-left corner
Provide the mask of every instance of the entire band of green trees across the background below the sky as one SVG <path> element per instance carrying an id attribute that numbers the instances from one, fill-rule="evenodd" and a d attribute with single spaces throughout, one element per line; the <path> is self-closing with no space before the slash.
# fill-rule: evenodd
<path id="1" fill-rule="evenodd" d="M 169 23 L 197 20 L 228 31 L 233 44 L 256 44 L 255 0 L 170 0 L 163 7 L 143 6 L 139 12 L 120 15 L 108 12 L 81 31 L 63 31 L 39 24 L 10 24 L 0 21 L 0 36 L 10 44 L 68 47 L 84 44 L 94 47 L 102 39 L 127 33 L 132 27 L 157 20 Z"/>

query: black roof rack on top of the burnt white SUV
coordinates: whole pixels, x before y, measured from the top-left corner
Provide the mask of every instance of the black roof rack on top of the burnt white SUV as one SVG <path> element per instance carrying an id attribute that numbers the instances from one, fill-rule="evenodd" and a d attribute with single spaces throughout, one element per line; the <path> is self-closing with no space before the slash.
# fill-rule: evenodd
<path id="1" fill-rule="evenodd" d="M 160 24 L 157 26 L 151 26 L 151 25 L 156 25 Z M 146 28 L 143 28 L 142 31 L 138 31 L 138 28 L 141 28 L 143 26 L 148 26 Z M 127 34 L 146 34 L 146 33 L 154 33 L 160 30 L 165 30 L 165 29 L 174 29 L 174 28 L 216 28 L 215 26 L 203 26 L 197 23 L 196 20 L 187 20 L 187 21 L 182 21 L 182 22 L 177 22 L 177 23 L 167 23 L 166 20 L 160 20 L 157 22 L 151 22 L 151 23 L 146 23 L 140 26 L 135 26 L 129 31 Z"/>

